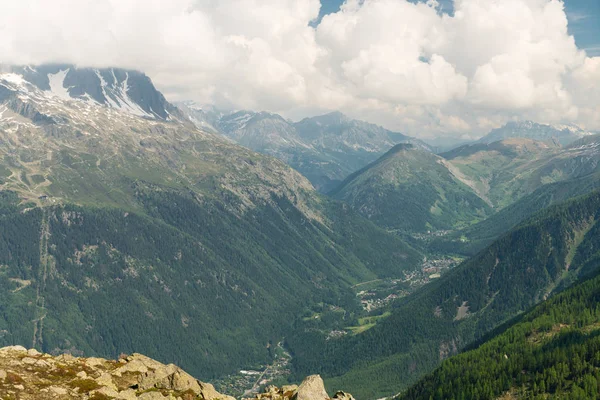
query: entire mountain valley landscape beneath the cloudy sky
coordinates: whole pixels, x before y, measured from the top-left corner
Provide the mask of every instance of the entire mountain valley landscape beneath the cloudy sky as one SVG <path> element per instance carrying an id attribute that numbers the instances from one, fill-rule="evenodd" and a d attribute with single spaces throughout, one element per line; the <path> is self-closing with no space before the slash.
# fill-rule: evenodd
<path id="1" fill-rule="evenodd" d="M 138 71 L 1 70 L 0 346 L 31 350 L 0 350 L 0 392 L 35 366 L 70 398 L 104 374 L 145 398 L 598 396 L 600 135 L 513 121 L 436 154 L 339 112 L 170 103 Z"/>

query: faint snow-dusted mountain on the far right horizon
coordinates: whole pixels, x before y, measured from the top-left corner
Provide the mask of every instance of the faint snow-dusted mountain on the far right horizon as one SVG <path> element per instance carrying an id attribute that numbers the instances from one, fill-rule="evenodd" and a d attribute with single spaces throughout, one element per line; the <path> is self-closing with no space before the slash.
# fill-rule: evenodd
<path id="1" fill-rule="evenodd" d="M 545 125 L 532 121 L 519 121 L 508 122 L 503 127 L 492 130 L 486 136 L 479 139 L 479 143 L 493 143 L 510 138 L 524 138 L 567 145 L 591 134 L 591 132 L 572 124 Z"/>

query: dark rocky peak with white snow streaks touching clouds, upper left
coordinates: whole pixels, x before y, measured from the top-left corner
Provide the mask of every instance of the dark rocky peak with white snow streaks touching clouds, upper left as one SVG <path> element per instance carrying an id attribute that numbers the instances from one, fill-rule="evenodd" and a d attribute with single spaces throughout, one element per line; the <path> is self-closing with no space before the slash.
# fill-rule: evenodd
<path id="1" fill-rule="evenodd" d="M 77 68 L 73 65 L 10 67 L 41 91 L 62 100 L 79 99 L 138 116 L 167 120 L 177 113 L 138 71 L 118 68 Z"/>

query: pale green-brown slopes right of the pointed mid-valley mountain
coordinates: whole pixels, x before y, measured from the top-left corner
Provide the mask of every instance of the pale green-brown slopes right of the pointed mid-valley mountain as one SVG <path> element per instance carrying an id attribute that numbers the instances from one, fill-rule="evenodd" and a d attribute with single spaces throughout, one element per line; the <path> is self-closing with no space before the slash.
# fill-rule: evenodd
<path id="1" fill-rule="evenodd" d="M 599 170 L 598 136 L 565 148 L 531 139 L 463 146 L 443 153 L 457 174 L 496 208 L 506 207 L 542 185 Z"/>

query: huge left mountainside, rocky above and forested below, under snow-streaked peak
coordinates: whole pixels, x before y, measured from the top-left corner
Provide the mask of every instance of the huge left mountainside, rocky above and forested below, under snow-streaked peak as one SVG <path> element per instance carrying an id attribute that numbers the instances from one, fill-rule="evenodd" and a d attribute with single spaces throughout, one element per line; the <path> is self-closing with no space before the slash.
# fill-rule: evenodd
<path id="1" fill-rule="evenodd" d="M 213 377 L 420 263 L 281 161 L 130 111 L 0 75 L 0 343 Z"/>

